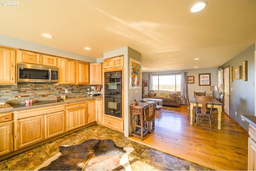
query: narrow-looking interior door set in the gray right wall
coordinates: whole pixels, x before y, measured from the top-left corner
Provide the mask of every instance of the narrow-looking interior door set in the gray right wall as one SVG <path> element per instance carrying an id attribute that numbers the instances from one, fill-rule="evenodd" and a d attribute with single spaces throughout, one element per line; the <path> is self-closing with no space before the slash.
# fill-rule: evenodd
<path id="1" fill-rule="evenodd" d="M 229 67 L 224 69 L 224 112 L 229 116 Z"/>

